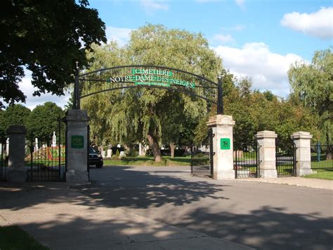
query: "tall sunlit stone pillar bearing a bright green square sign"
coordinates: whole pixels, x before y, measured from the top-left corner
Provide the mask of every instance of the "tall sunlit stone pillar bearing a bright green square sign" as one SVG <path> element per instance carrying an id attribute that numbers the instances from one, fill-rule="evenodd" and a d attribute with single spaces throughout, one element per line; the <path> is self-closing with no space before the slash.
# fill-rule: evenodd
<path id="1" fill-rule="evenodd" d="M 235 179 L 233 169 L 233 126 L 230 115 L 214 115 L 209 118 L 208 127 L 213 129 L 214 175 L 216 180 Z"/>

